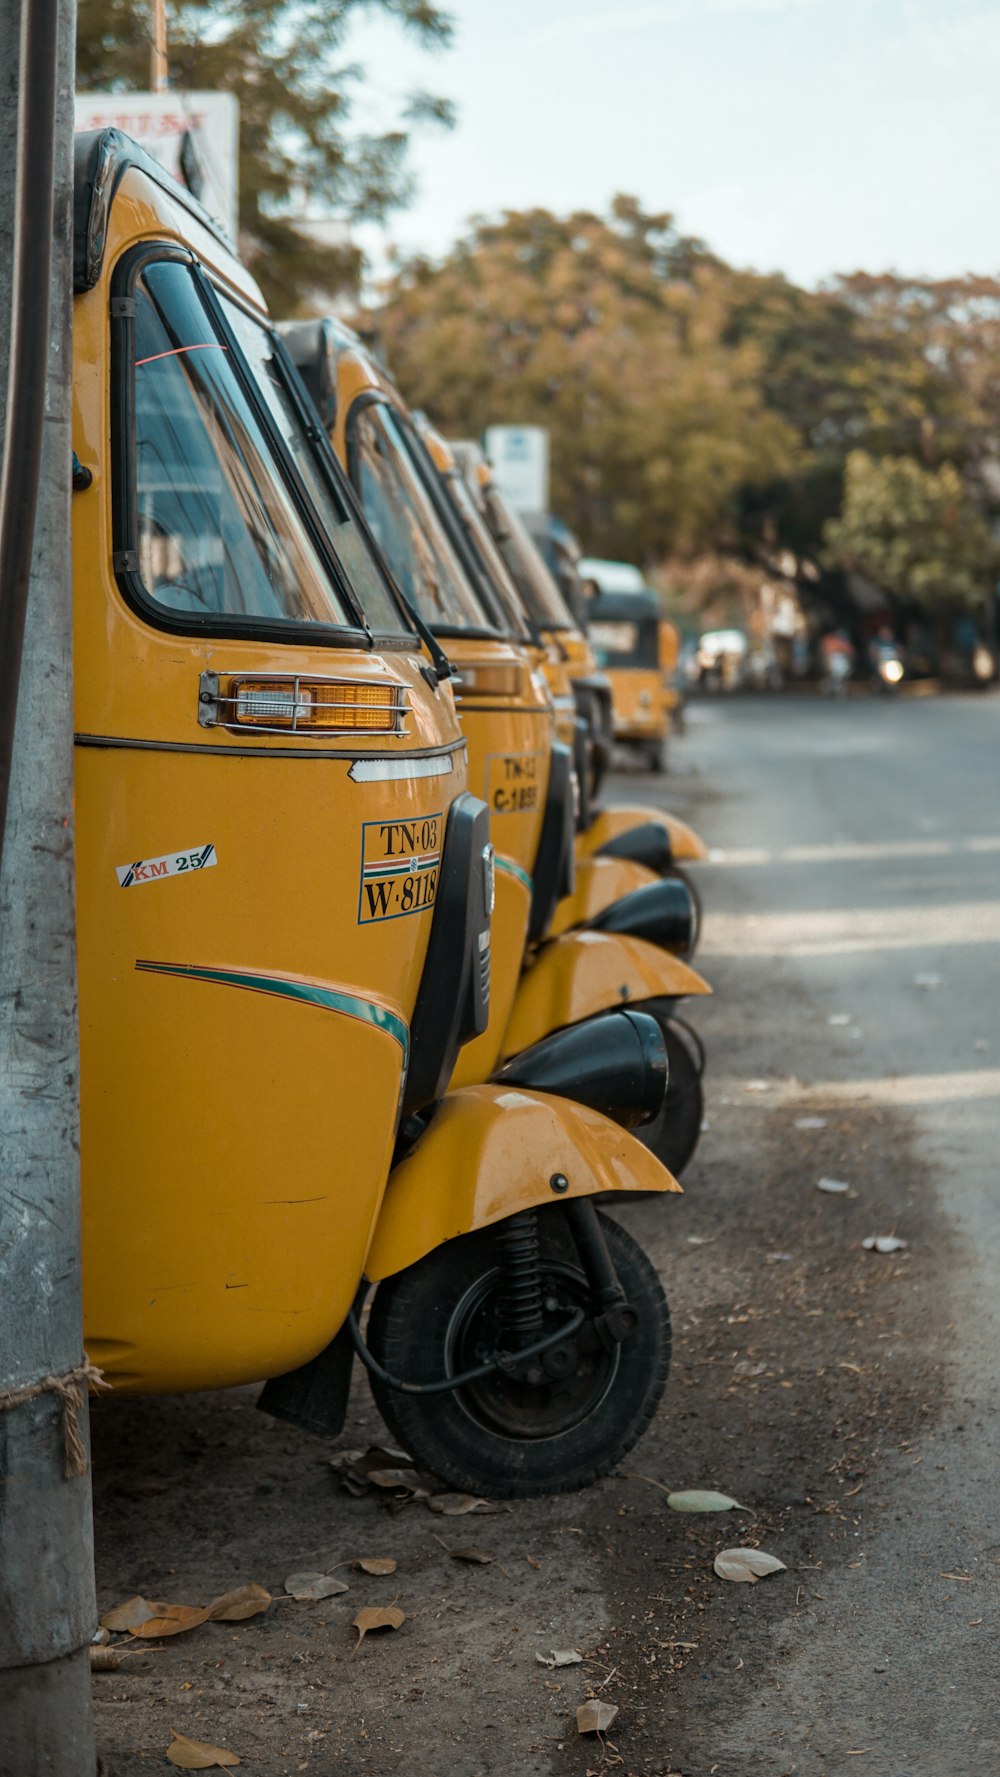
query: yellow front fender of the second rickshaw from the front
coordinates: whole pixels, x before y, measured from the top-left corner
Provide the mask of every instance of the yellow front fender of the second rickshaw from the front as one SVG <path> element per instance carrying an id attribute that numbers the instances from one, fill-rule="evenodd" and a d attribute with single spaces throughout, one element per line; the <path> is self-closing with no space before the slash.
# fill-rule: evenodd
<path id="1" fill-rule="evenodd" d="M 599 1011 L 710 992 L 694 968 L 647 938 L 627 938 L 616 931 L 568 931 L 545 944 L 524 970 L 501 1059 L 508 1061 L 551 1031 Z"/>

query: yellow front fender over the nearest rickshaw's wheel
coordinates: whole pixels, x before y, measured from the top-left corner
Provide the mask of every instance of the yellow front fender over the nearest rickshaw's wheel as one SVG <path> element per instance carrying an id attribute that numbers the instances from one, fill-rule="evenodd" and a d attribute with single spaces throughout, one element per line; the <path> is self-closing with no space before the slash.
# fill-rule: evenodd
<path id="1" fill-rule="evenodd" d="M 378 1283 L 474 1228 L 599 1191 L 668 1192 L 680 1185 L 599 1111 L 551 1093 L 462 1086 L 448 1093 L 416 1148 L 393 1169 L 364 1274 Z"/>

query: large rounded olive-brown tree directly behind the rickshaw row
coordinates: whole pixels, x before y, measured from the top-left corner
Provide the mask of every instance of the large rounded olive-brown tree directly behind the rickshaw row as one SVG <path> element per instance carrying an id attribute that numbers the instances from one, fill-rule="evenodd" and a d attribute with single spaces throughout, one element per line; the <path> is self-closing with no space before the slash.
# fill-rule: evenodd
<path id="1" fill-rule="evenodd" d="M 760 352 L 726 320 L 707 249 L 616 197 L 607 217 L 474 220 L 442 263 L 403 265 L 369 323 L 448 434 L 547 426 L 554 508 L 595 553 L 641 562 L 725 542 L 741 489 L 790 467 Z"/>

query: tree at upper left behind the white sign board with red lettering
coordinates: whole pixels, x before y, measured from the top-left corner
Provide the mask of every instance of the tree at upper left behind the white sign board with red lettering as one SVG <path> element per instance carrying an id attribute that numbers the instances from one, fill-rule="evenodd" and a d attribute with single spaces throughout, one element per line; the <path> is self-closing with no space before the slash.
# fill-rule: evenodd
<path id="1" fill-rule="evenodd" d="M 297 224 L 304 197 L 353 219 L 385 217 L 410 195 L 409 126 L 453 121 L 448 101 L 416 92 L 398 128 L 350 133 L 362 69 L 339 53 L 350 20 L 375 5 L 425 48 L 449 41 L 451 21 L 432 0 L 172 0 L 167 9 L 172 85 L 240 101 L 240 249 L 277 315 L 295 315 L 311 288 L 357 275 L 357 252 L 320 245 Z M 147 18 L 133 0 L 80 0 L 80 91 L 147 87 Z"/>

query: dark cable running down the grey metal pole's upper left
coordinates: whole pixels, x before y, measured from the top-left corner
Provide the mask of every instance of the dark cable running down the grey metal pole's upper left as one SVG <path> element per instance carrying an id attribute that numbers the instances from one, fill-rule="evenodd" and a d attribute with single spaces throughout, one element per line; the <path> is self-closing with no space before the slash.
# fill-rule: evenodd
<path id="1" fill-rule="evenodd" d="M 52 7 L 25 0 L 18 64 L 11 357 L 0 460 L 0 855 L 11 794 L 48 370 L 55 62 L 57 32 Z M 48 197 L 48 215 L 44 211 L 37 215 L 37 192 Z M 69 473 L 69 464 L 66 469 Z"/>

